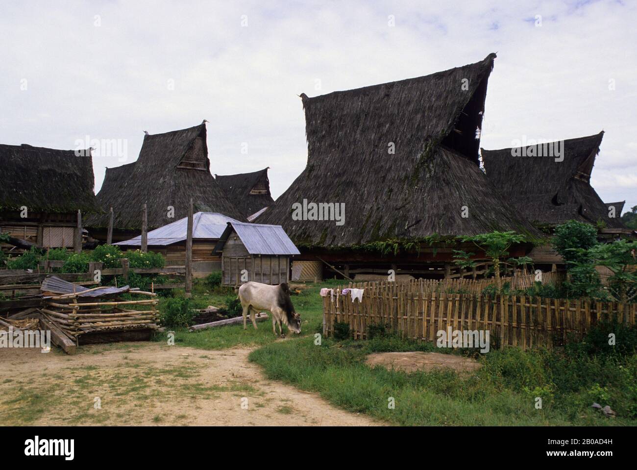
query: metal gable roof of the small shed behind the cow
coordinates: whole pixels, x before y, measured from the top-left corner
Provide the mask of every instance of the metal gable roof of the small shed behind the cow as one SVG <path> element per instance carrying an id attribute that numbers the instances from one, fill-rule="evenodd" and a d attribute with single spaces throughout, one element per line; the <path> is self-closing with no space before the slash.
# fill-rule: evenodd
<path id="1" fill-rule="evenodd" d="M 223 249 L 233 229 L 251 255 L 301 254 L 281 225 L 246 224 L 245 222 L 229 222 L 215 251 Z"/>

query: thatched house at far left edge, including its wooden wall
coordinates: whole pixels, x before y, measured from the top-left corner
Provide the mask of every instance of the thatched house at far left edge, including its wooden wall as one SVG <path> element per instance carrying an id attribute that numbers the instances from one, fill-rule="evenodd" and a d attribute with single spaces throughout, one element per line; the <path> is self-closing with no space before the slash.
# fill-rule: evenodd
<path id="1" fill-rule="evenodd" d="M 76 155 L 77 153 L 77 155 Z M 0 145 L 0 233 L 45 248 L 74 246 L 78 210 L 99 211 L 90 150 Z"/>

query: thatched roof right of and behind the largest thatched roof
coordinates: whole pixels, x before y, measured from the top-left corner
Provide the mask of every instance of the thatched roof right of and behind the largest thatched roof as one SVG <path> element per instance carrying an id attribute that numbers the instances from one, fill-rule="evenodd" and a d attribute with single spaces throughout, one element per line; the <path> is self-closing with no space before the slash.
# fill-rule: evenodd
<path id="1" fill-rule="evenodd" d="M 607 205 L 590 185 L 603 136 L 602 131 L 564 140 L 563 161 L 547 152 L 551 146 L 559 148 L 557 143 L 482 150 L 482 159 L 490 182 L 536 224 L 557 225 L 571 219 L 596 224 L 601 220 L 610 228 L 625 228 L 619 216 L 608 217 Z M 513 156 L 529 154 L 534 156 Z"/>

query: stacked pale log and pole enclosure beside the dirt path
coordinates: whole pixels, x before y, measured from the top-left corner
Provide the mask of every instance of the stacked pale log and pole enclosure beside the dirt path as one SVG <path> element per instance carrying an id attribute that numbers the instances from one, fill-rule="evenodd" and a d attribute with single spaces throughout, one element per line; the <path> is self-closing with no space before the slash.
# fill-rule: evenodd
<path id="1" fill-rule="evenodd" d="M 80 293 L 47 297 L 46 308 L 40 311 L 71 338 L 83 333 L 113 332 L 122 329 L 157 329 L 159 313 L 155 309 L 157 294 L 135 290 L 148 296 L 145 300 L 113 300 L 99 297 L 80 297 Z M 149 310 L 131 310 L 127 306 L 143 305 Z"/>

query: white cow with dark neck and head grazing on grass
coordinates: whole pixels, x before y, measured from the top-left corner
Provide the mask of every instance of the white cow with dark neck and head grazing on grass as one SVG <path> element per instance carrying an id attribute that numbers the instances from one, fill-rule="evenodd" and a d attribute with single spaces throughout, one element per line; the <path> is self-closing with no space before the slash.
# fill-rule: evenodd
<path id="1" fill-rule="evenodd" d="M 276 334 L 276 325 L 279 326 L 281 337 L 283 324 L 295 333 L 301 332 L 301 315 L 294 311 L 290 299 L 290 288 L 286 283 L 268 285 L 259 282 L 247 282 L 239 288 L 239 300 L 243 307 L 243 329 L 247 329 L 246 321 L 248 313 L 254 329 L 257 329 L 255 313 L 259 310 L 268 310 L 272 315 L 272 331 Z"/>

